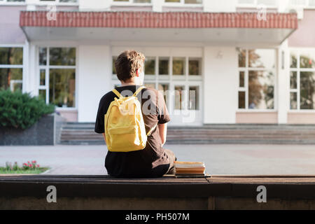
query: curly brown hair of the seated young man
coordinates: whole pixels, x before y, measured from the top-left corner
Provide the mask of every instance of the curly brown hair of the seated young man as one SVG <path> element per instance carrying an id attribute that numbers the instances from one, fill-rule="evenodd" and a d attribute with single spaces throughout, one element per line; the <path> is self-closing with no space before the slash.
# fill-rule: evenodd
<path id="1" fill-rule="evenodd" d="M 137 69 L 144 66 L 144 54 L 136 50 L 125 50 L 115 61 L 115 69 L 119 80 L 128 80 L 136 76 Z"/>

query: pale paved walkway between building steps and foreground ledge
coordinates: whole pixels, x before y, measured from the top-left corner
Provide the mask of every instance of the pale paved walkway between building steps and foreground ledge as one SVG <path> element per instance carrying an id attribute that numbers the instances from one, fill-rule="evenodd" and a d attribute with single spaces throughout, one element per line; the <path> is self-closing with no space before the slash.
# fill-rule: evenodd
<path id="1" fill-rule="evenodd" d="M 165 145 L 181 161 L 204 161 L 209 174 L 315 174 L 315 146 Z M 0 146 L 6 161 L 36 160 L 47 174 L 107 174 L 106 146 Z"/>

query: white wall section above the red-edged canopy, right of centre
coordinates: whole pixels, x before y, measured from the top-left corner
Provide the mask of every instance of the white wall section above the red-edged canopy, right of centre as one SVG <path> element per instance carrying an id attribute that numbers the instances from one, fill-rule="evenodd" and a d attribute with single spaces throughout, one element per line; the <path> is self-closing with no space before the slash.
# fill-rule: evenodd
<path id="1" fill-rule="evenodd" d="M 205 0 L 204 11 L 211 13 L 234 13 L 236 11 L 237 0 Z"/>

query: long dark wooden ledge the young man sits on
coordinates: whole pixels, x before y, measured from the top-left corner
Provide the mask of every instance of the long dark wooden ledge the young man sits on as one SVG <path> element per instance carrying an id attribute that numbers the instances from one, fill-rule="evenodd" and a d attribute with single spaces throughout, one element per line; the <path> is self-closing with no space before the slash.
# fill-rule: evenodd
<path id="1" fill-rule="evenodd" d="M 267 203 L 258 203 L 258 186 Z M 47 187 L 57 188 L 48 203 Z M 315 176 L 0 176 L 0 209 L 315 209 Z"/>

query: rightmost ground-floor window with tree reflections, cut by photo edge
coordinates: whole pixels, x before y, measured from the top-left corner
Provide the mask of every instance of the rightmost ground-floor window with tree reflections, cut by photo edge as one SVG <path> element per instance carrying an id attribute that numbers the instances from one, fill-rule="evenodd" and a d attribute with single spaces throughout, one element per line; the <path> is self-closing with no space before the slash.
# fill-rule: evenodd
<path id="1" fill-rule="evenodd" d="M 290 109 L 315 109 L 315 51 L 290 51 Z"/>

